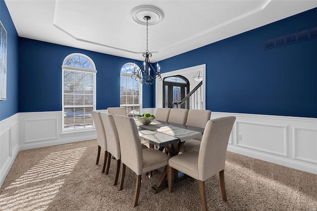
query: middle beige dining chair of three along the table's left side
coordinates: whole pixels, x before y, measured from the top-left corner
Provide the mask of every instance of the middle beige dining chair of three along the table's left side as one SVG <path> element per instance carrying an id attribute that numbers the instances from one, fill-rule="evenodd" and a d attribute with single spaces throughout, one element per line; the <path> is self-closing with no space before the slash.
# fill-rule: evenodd
<path id="1" fill-rule="evenodd" d="M 117 160 L 117 168 L 115 173 L 114 184 L 117 185 L 119 171 L 120 171 L 120 163 L 121 163 L 121 152 L 120 152 L 120 143 L 119 136 L 117 132 L 117 127 L 115 126 L 113 116 L 108 113 L 100 113 L 101 119 L 104 124 L 105 132 L 106 132 L 106 140 L 107 140 L 107 166 L 106 166 L 106 174 L 109 172 L 111 155 Z"/>

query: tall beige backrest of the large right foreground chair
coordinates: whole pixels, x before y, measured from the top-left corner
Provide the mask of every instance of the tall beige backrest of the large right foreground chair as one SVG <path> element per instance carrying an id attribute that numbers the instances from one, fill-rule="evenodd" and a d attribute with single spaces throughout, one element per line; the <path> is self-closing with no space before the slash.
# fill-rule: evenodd
<path id="1" fill-rule="evenodd" d="M 198 177 L 205 181 L 224 169 L 229 136 L 235 117 L 208 121 L 198 156 Z"/>

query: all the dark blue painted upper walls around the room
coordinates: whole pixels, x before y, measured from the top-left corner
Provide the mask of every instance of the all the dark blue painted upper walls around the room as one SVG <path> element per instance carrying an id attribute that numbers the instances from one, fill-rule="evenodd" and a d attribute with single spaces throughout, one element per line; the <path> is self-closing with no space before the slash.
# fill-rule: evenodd
<path id="1" fill-rule="evenodd" d="M 61 64 L 70 53 L 97 67 L 97 109 L 119 105 L 120 68 L 127 58 L 18 38 L 3 0 L 7 31 L 7 100 L 0 121 L 18 112 L 61 110 Z M 160 61 L 168 72 L 205 64 L 206 107 L 211 111 L 317 118 L 317 39 L 264 49 L 267 39 L 317 26 L 317 8 Z M 154 85 L 144 85 L 143 106 L 154 107 Z"/>

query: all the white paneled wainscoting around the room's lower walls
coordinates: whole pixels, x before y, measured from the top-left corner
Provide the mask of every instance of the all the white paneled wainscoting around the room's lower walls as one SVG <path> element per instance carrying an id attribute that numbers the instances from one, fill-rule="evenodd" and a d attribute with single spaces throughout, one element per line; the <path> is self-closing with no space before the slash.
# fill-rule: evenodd
<path id="1" fill-rule="evenodd" d="M 228 151 L 317 174 L 316 118 L 211 112 L 211 119 L 231 115 Z M 0 186 L 20 150 L 97 137 L 94 129 L 63 133 L 61 124 L 61 111 L 18 113 L 0 122 Z"/>

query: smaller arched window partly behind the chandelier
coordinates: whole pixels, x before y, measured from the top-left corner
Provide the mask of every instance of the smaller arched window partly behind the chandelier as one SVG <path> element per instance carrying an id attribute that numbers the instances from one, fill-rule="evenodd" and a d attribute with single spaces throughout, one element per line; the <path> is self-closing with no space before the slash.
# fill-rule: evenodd
<path id="1" fill-rule="evenodd" d="M 126 63 L 120 71 L 120 107 L 126 107 L 129 117 L 142 113 L 142 84 L 131 78 L 134 68 L 139 67 Z"/>

